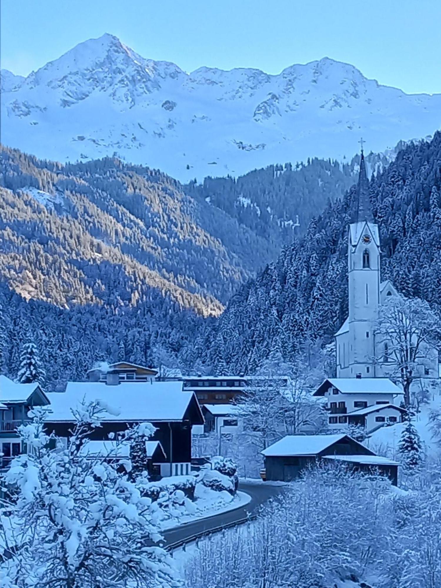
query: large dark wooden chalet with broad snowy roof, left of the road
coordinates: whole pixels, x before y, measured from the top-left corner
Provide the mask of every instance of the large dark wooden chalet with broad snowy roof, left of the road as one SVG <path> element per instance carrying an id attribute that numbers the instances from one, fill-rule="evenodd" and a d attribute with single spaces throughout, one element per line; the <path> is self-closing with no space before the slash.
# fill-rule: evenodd
<path id="1" fill-rule="evenodd" d="M 90 435 L 92 441 L 118 439 L 130 425 L 149 422 L 156 427 L 152 441 L 161 443 L 165 454 L 152 466 L 161 476 L 184 475 L 191 467 L 191 432 L 203 425 L 203 416 L 193 392 L 183 392 L 181 382 L 122 381 L 68 382 L 65 392 L 48 394 L 50 410 L 46 416 L 48 433 L 67 439 L 74 426 L 72 409 L 82 402 L 99 400 L 109 407 L 100 417 L 101 426 Z M 109 433 L 112 435 L 109 437 Z M 155 457 L 155 459 L 153 459 Z"/>

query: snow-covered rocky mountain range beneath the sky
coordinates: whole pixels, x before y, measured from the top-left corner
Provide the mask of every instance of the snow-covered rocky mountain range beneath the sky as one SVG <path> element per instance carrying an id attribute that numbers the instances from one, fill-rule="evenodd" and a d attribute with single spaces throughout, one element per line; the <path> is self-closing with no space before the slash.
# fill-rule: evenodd
<path id="1" fill-rule="evenodd" d="M 2 72 L 1 140 L 44 158 L 118 154 L 187 181 L 431 135 L 441 95 L 406 95 L 329 58 L 259 69 L 145 59 L 106 34 L 27 78 Z"/>

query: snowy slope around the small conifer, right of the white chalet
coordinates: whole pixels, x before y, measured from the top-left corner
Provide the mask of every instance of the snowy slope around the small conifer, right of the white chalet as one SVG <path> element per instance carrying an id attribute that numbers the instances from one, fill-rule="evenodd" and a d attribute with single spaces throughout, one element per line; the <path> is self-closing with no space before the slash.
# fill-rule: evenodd
<path id="1" fill-rule="evenodd" d="M 426 456 L 434 456 L 439 453 L 439 447 L 433 439 L 429 427 L 429 415 L 433 409 L 441 409 L 441 383 L 437 382 L 430 387 L 430 402 L 420 406 L 420 412 L 413 419 L 413 425 L 421 438 L 423 450 Z M 381 427 L 376 430 L 364 442 L 364 445 L 379 455 L 397 459 L 397 447 L 405 427 L 405 423 L 397 423 L 389 427 Z M 399 459 L 398 459 L 399 461 Z"/>

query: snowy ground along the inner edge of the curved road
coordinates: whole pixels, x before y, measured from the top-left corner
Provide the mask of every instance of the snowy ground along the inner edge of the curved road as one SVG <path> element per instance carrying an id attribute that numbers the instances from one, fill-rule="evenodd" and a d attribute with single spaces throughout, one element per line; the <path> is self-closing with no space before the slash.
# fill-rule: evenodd
<path id="1" fill-rule="evenodd" d="M 161 529 L 172 529 L 173 527 L 181 526 L 186 523 L 193 523 L 195 520 L 206 519 L 213 515 L 228 512 L 229 510 L 239 509 L 242 506 L 248 505 L 251 496 L 245 492 L 237 492 L 235 496 L 231 496 L 228 492 L 215 492 L 209 488 L 205 488 L 202 484 L 196 486 L 195 502 L 191 503 L 194 506 L 194 511 L 183 512 L 180 516 L 163 520 L 161 522 Z"/>

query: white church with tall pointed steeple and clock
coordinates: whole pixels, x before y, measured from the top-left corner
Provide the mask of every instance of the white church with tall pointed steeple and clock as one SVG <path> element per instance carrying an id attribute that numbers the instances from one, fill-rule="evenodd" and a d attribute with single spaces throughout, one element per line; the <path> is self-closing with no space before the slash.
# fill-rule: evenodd
<path id="1" fill-rule="evenodd" d="M 389 280 L 381 281 L 379 230 L 369 201 L 363 149 L 357 195 L 355 222 L 348 231 L 349 316 L 335 333 L 336 376 L 387 377 L 392 375 L 387 343 L 376 340 L 375 323 L 380 305 L 397 292 Z M 425 349 L 423 355 L 418 376 L 439 377 L 436 349 Z"/>

